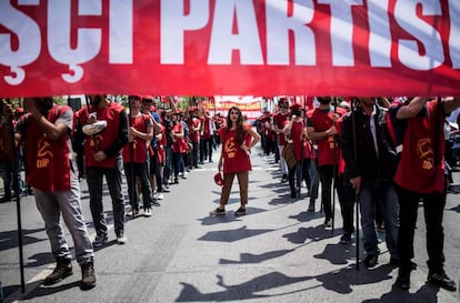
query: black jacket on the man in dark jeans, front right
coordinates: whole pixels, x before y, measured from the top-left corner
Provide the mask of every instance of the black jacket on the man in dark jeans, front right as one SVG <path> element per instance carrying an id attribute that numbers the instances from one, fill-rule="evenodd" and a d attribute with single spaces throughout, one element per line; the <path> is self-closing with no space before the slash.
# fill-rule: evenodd
<path id="1" fill-rule="evenodd" d="M 358 107 L 343 118 L 340 145 L 346 161 L 346 174 L 350 179 L 360 175 L 366 180 L 381 181 L 392 180 L 394 175 L 398 158 L 388 137 L 387 110 L 379 105 L 374 107 L 378 153 L 370 129 L 370 117 Z M 353 120 L 356 137 L 353 137 Z M 357 154 L 354 154 L 353 138 L 356 138 Z"/>

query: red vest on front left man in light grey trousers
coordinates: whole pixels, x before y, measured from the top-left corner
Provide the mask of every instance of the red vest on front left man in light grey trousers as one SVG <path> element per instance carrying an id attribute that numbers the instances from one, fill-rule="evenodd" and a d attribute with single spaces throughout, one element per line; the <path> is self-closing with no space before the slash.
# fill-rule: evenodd
<path id="1" fill-rule="evenodd" d="M 47 120 L 54 123 L 69 107 L 54 105 L 47 114 Z M 29 115 L 27 125 L 27 163 L 28 183 L 46 192 L 70 190 L 70 140 L 67 134 L 51 141 L 41 130 L 39 123 Z"/>

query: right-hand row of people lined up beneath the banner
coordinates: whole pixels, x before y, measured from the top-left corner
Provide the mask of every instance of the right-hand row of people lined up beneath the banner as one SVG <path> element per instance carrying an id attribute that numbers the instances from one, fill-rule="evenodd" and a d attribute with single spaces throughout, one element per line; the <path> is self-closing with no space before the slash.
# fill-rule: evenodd
<path id="1" fill-rule="evenodd" d="M 281 182 L 298 199 L 301 184 L 316 211 L 318 186 L 324 228 L 333 229 L 334 198 L 343 222 L 341 244 L 356 230 L 353 209 L 359 203 L 364 239 L 364 265 L 378 264 L 377 231 L 386 232 L 390 264 L 399 266 L 396 285 L 408 290 L 417 269 L 413 236 L 419 202 L 427 224 L 428 281 L 449 291 L 456 283 L 444 272 L 442 213 L 450 166 L 458 155 L 447 142 L 444 124 L 458 111 L 459 98 L 350 98 L 318 97 L 308 109 L 278 101 L 278 111 L 257 121 L 263 151 L 280 165 Z M 457 113 L 458 114 L 458 113 Z M 452 125 L 449 124 L 449 125 Z M 446 142 L 446 143 L 444 143 Z"/>

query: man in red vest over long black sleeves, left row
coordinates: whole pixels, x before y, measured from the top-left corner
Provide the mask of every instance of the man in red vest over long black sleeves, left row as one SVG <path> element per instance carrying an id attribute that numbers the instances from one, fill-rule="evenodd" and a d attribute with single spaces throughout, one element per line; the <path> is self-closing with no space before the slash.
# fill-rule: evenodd
<path id="1" fill-rule="evenodd" d="M 89 104 L 79 111 L 82 131 L 87 134 L 84 162 L 90 193 L 90 208 L 97 236 L 94 246 L 109 241 L 102 204 L 102 180 L 106 176 L 112 199 L 117 242 L 127 242 L 124 235 L 124 198 L 121 190 L 123 160 L 121 150 L 128 142 L 128 118 L 122 105 L 104 94 L 91 94 Z"/>

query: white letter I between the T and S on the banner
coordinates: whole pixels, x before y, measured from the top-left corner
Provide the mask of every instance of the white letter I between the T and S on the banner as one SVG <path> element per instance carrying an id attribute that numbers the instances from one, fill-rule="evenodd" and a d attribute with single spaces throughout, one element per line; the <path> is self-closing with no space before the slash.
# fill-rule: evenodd
<path id="1" fill-rule="evenodd" d="M 371 67 L 391 67 L 391 31 L 388 0 L 368 0 L 369 57 Z"/>

